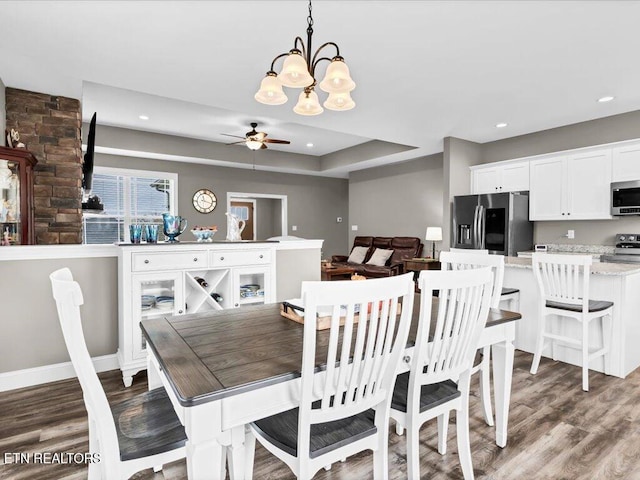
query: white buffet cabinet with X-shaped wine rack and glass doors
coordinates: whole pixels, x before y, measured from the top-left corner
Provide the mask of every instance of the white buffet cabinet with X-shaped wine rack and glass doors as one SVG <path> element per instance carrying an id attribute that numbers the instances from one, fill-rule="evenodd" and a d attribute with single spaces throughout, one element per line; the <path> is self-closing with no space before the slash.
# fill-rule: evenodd
<path id="1" fill-rule="evenodd" d="M 277 245 L 119 245 L 117 357 L 125 386 L 147 366 L 141 320 L 275 302 Z"/>

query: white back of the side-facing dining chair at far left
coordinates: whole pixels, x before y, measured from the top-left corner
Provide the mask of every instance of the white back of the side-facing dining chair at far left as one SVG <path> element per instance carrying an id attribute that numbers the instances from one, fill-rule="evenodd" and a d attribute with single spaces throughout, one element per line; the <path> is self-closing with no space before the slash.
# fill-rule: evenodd
<path id="1" fill-rule="evenodd" d="M 107 456 L 119 459 L 118 435 L 111 408 L 87 350 L 82 329 L 80 316 L 80 306 L 84 303 L 82 290 L 73 280 L 73 275 L 68 268 L 56 270 L 49 275 L 49 278 L 64 342 L 82 388 L 89 420 L 90 423 L 97 424 L 96 433 L 99 437 L 100 454 L 103 461 L 106 461 Z"/>

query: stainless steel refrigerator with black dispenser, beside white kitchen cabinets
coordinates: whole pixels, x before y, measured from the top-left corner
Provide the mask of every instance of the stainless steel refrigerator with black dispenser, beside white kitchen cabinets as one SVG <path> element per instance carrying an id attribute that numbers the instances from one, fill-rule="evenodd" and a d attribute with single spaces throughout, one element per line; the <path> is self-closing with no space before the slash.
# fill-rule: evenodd
<path id="1" fill-rule="evenodd" d="M 533 250 L 529 192 L 454 197 L 452 223 L 453 248 L 487 249 L 509 256 Z"/>

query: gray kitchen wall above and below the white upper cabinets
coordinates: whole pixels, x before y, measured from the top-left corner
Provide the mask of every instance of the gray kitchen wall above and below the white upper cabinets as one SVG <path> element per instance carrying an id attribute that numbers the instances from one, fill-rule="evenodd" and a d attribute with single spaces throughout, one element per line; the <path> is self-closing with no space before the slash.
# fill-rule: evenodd
<path id="1" fill-rule="evenodd" d="M 640 138 L 640 111 L 485 143 L 481 146 L 482 159 L 477 163 L 541 155 L 636 138 Z M 563 237 L 569 229 L 576 231 L 573 240 Z M 625 232 L 640 232 L 640 217 L 536 222 L 534 241 L 536 243 L 613 245 L 615 234 Z"/>

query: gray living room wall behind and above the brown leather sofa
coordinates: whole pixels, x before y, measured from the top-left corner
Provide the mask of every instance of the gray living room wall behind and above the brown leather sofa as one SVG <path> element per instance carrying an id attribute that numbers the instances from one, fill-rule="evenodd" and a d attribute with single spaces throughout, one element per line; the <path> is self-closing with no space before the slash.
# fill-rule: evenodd
<path id="1" fill-rule="evenodd" d="M 326 256 L 349 253 L 356 235 L 420 237 L 424 243 L 427 227 L 442 224 L 442 155 L 352 172 L 344 222 L 348 247 L 325 247 Z"/>

